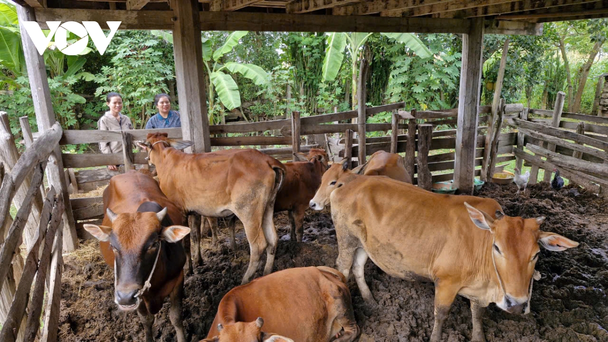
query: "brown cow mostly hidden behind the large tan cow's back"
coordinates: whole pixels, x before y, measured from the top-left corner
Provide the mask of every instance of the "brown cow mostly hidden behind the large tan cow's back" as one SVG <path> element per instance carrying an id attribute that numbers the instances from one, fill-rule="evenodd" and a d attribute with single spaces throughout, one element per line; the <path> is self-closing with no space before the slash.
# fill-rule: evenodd
<path id="1" fill-rule="evenodd" d="M 366 176 L 387 176 L 393 180 L 412 184 L 412 176 L 406 170 L 406 161 L 396 153 L 378 151 L 370 159 L 352 170 L 352 173 Z"/>

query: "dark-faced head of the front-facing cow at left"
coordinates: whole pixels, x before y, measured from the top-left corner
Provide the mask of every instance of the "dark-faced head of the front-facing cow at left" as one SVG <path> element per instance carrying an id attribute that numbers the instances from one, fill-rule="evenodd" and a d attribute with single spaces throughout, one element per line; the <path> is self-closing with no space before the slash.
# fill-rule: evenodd
<path id="1" fill-rule="evenodd" d="M 98 240 L 108 242 L 114 252 L 114 302 L 121 310 L 135 310 L 161 249 L 167 248 L 165 243 L 178 242 L 190 228 L 161 226 L 167 208 L 128 214 L 115 214 L 108 208 L 106 214 L 112 226 L 84 227 Z"/>

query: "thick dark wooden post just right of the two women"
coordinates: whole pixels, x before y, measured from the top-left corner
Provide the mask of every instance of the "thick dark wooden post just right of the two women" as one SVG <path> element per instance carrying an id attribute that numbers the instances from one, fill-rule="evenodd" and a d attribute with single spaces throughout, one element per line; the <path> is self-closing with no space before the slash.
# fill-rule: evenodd
<path id="1" fill-rule="evenodd" d="M 203 78 L 201 22 L 198 1 L 181 0 L 172 3 L 173 53 L 178 83 L 179 111 L 184 140 L 194 143 L 186 152 L 211 152 L 207 93 Z"/>

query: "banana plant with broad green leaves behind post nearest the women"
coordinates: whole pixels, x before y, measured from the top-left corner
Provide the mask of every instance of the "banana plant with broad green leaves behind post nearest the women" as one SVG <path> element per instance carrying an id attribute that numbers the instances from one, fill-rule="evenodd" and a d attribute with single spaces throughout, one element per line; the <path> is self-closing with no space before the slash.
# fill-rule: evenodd
<path id="1" fill-rule="evenodd" d="M 159 35 L 165 41 L 173 43 L 173 36 L 171 33 L 162 31 L 152 31 L 153 34 Z M 233 110 L 234 108 L 241 106 L 241 94 L 238 90 L 237 82 L 232 78 L 232 75 L 227 74 L 230 72 L 240 73 L 243 77 L 252 80 L 255 85 L 263 85 L 268 82 L 268 72 L 260 68 L 260 66 L 249 64 L 249 63 L 237 63 L 234 61 L 227 61 L 221 63 L 222 57 L 232 51 L 237 46 L 238 41 L 249 33 L 248 31 L 235 31 L 230 33 L 218 49 L 213 51 L 212 43 L 207 38 L 201 38 L 202 40 L 202 60 L 207 74 L 209 75 L 209 90 L 207 91 L 209 100 L 209 122 L 210 124 L 218 124 L 221 117 L 218 120 L 213 118 L 213 106 L 215 105 L 215 95 L 217 94 L 219 102 L 227 109 Z"/>

